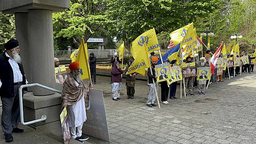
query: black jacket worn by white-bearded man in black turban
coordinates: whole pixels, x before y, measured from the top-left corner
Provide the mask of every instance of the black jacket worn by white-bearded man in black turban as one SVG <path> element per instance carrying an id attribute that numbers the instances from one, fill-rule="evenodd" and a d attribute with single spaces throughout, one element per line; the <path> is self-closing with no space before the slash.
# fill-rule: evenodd
<path id="1" fill-rule="evenodd" d="M 6 52 L 0 54 L 0 80 L 2 86 L 0 88 L 0 97 L 1 98 L 12 98 L 14 97 L 14 82 L 13 82 L 13 71 L 9 63 L 9 57 L 6 56 Z M 26 84 L 26 77 L 23 70 L 22 64 L 18 63 L 20 72 L 22 74 L 22 84 Z M 27 88 L 23 88 L 27 90 Z"/>

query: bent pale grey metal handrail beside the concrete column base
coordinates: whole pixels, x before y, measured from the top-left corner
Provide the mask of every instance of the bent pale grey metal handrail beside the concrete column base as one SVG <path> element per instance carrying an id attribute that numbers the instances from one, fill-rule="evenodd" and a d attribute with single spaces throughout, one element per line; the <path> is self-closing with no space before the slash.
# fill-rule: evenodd
<path id="1" fill-rule="evenodd" d="M 39 86 L 41 88 L 44 88 L 46 90 L 51 90 L 53 92 L 57 92 L 59 94 L 61 94 L 61 91 L 59 90 L 55 90 L 53 88 L 50 88 L 48 86 L 44 86 L 42 84 L 38 84 L 38 83 L 35 83 L 35 84 L 25 84 L 25 85 L 22 85 L 20 86 L 19 88 L 19 100 L 20 100 L 20 123 L 22 125 L 28 125 L 28 124 L 34 124 L 36 122 L 41 122 L 41 121 L 45 121 L 47 116 L 46 115 L 42 115 L 42 117 L 40 119 L 37 119 L 37 120 L 32 120 L 30 122 L 24 122 L 24 116 L 23 116 L 23 102 L 22 102 L 22 89 L 23 88 L 26 88 L 26 87 L 31 87 L 31 86 Z"/>

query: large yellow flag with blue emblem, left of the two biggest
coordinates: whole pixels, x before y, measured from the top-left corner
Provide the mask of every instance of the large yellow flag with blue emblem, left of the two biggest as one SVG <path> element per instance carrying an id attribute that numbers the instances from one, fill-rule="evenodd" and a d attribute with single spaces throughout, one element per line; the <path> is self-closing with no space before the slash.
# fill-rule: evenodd
<path id="1" fill-rule="evenodd" d="M 160 50 L 160 44 L 158 44 L 155 28 L 144 32 L 132 42 L 131 52 L 134 59 L 138 54 L 140 55 L 139 52 L 143 45 L 145 45 L 148 54 Z"/>

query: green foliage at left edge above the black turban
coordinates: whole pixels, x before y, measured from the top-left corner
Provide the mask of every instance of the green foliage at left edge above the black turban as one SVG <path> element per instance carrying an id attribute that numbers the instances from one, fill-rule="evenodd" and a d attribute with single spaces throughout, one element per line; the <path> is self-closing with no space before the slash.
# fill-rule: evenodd
<path id="1" fill-rule="evenodd" d="M 15 21 L 14 15 L 3 14 L 0 12 L 0 51 L 4 50 L 4 44 L 15 38 Z"/>

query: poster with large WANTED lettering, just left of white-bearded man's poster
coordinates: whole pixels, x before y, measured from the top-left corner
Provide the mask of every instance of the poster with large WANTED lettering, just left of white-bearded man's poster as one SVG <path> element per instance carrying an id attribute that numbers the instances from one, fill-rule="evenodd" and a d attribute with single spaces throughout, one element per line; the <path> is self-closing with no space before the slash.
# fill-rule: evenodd
<path id="1" fill-rule="evenodd" d="M 183 78 L 196 76 L 196 64 L 194 62 L 182 64 Z"/>

